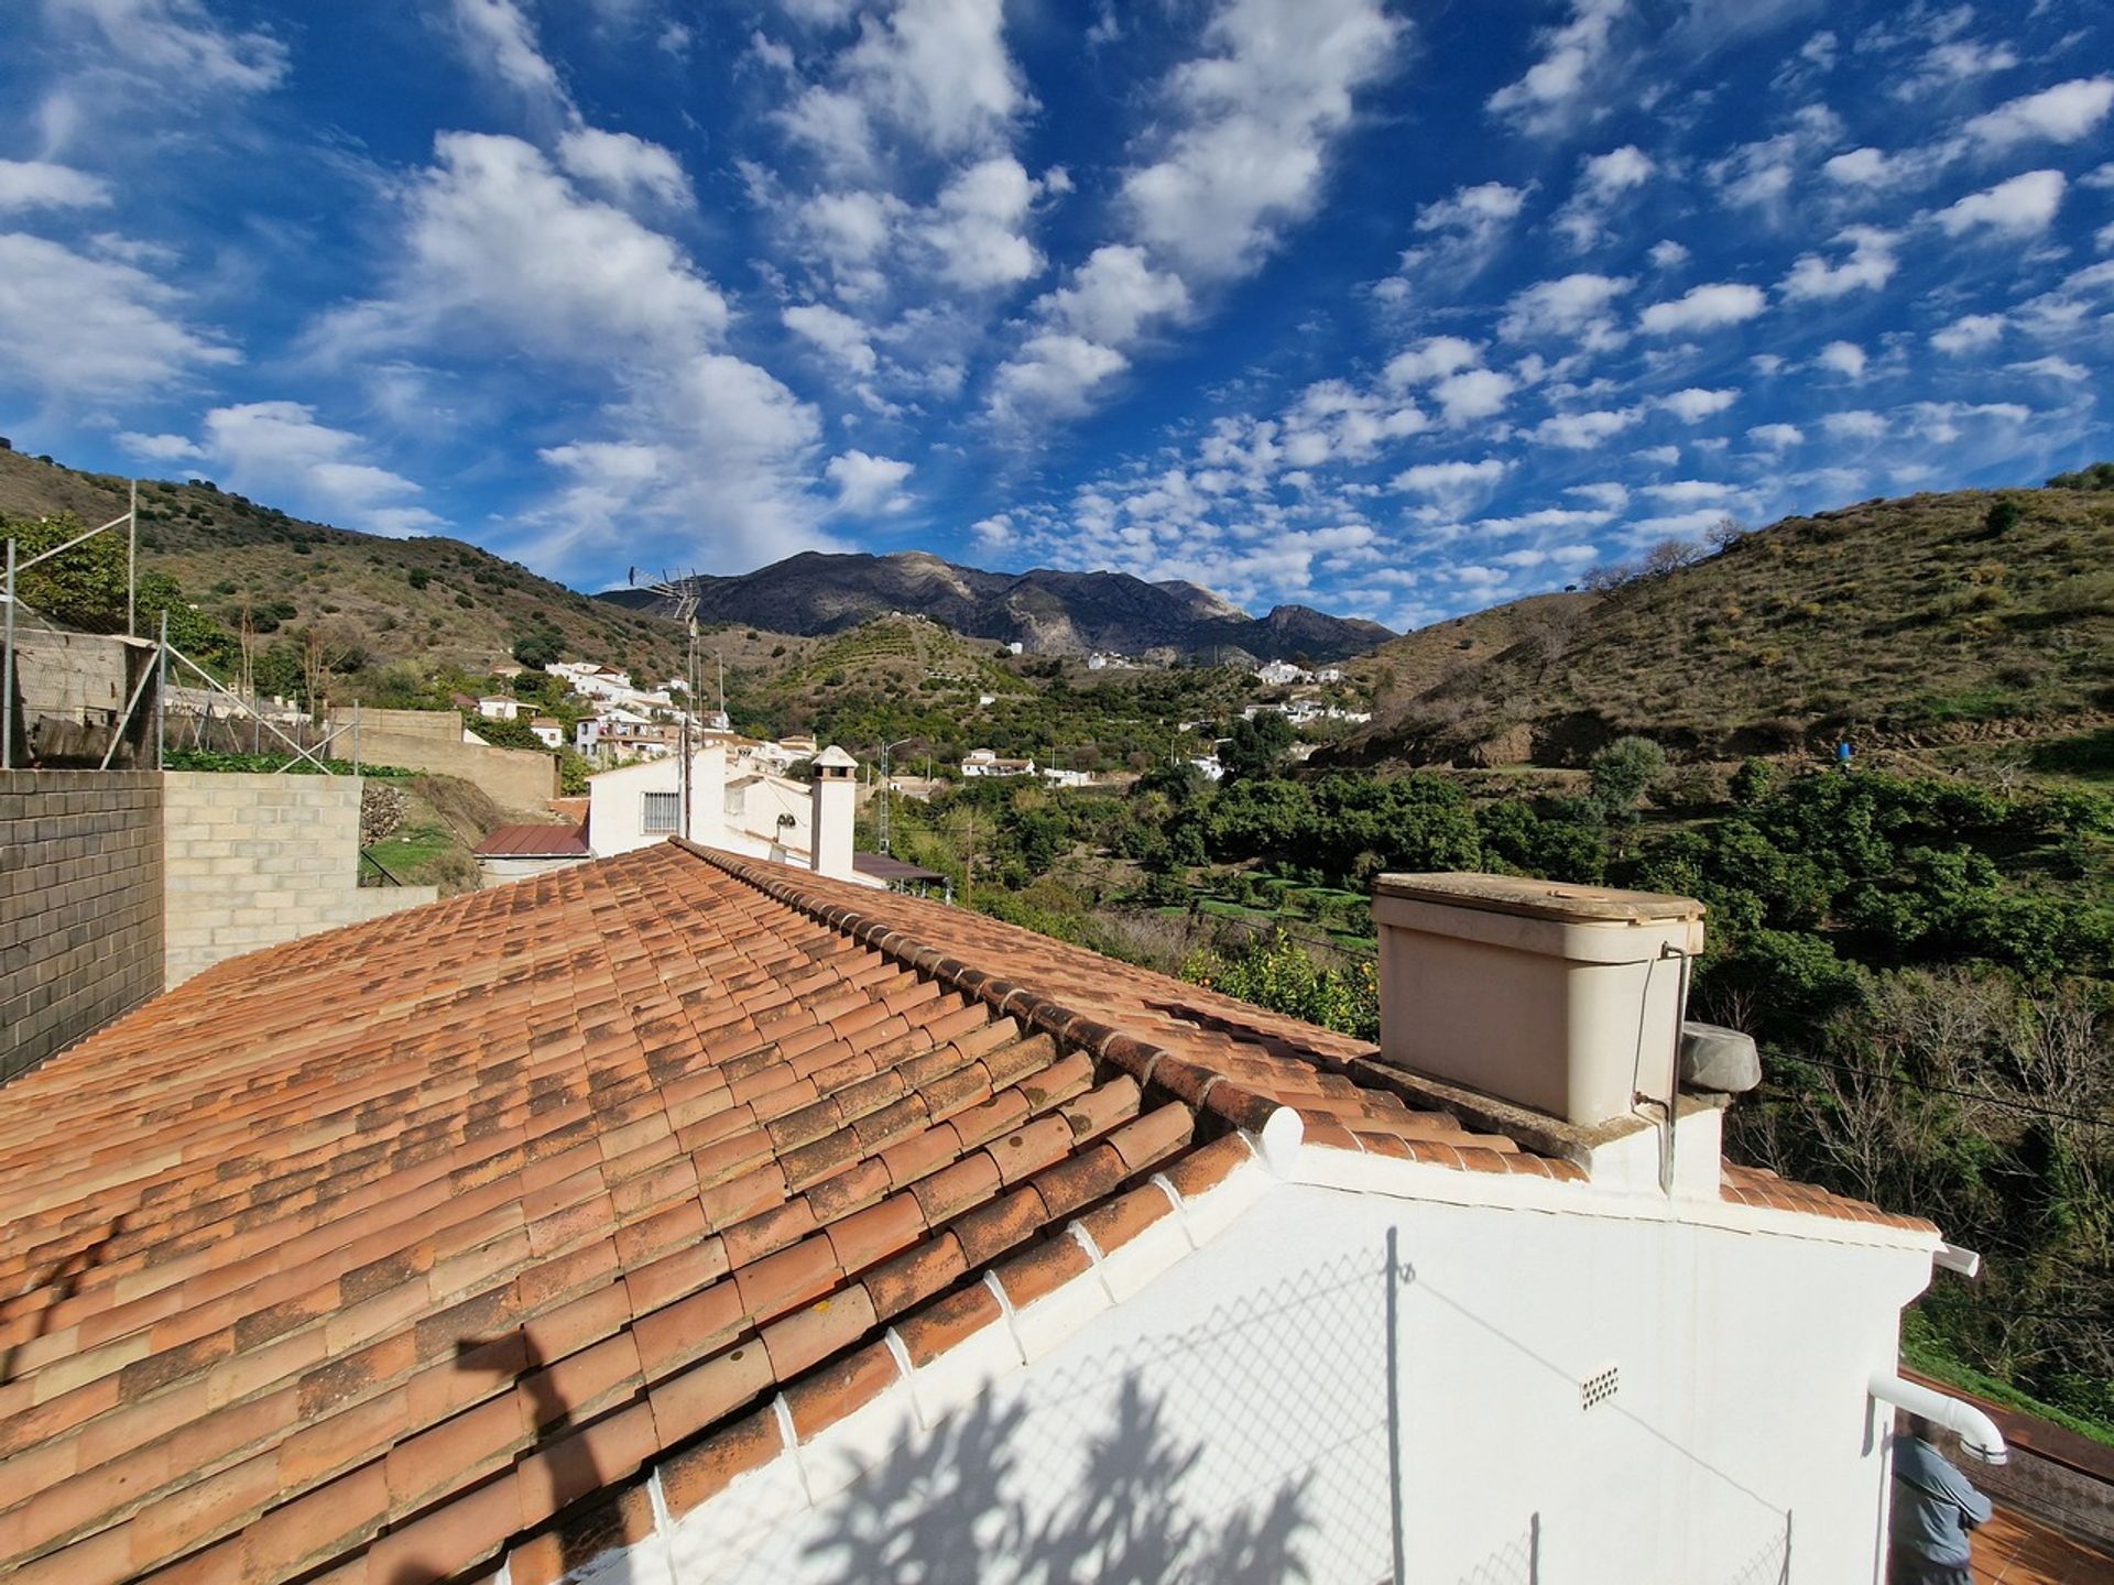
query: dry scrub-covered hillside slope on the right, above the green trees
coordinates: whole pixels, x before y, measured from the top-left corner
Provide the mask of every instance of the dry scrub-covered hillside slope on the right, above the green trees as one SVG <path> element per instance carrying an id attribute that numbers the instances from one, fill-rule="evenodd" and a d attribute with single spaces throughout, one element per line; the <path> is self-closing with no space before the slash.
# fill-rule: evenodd
<path id="1" fill-rule="evenodd" d="M 1467 664 L 1410 693 L 1452 630 L 1366 661 L 1410 657 L 1347 761 L 1579 765 L 1626 733 L 1725 759 L 1837 733 L 2078 731 L 2114 710 L 2114 495 L 1962 490 L 1786 518 L 1600 596 L 1471 617 Z"/>

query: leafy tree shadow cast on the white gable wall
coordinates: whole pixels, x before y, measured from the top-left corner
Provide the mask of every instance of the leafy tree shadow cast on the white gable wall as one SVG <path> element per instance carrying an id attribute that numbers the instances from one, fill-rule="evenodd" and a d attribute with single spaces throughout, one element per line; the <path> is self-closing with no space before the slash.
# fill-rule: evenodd
<path id="1" fill-rule="evenodd" d="M 1093 1435 L 1074 1488 L 1040 1511 L 1023 1494 L 1027 1407 L 985 1395 L 903 1443 L 827 1503 L 808 1560 L 841 1585 L 1275 1585 L 1309 1579 L 1306 1477 L 1220 1513 L 1188 1507 L 1203 1458 L 1167 1424 L 1139 1372 Z"/>

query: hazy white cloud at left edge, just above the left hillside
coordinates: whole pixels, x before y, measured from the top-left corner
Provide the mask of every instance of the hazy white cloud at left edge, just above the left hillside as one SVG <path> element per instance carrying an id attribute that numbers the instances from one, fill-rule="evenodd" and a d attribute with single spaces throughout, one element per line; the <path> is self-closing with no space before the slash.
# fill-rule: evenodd
<path id="1" fill-rule="evenodd" d="M 182 294 L 131 264 L 0 235 L 0 385 L 125 406 L 233 347 L 180 319 Z"/>

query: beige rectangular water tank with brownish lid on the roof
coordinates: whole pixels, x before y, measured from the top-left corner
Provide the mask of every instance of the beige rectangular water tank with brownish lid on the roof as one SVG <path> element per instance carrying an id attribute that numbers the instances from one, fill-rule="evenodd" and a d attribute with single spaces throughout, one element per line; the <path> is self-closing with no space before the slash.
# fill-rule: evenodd
<path id="1" fill-rule="evenodd" d="M 1383 875 L 1387 1061 L 1577 1124 L 1672 1088 L 1704 905 L 1516 875 Z"/>

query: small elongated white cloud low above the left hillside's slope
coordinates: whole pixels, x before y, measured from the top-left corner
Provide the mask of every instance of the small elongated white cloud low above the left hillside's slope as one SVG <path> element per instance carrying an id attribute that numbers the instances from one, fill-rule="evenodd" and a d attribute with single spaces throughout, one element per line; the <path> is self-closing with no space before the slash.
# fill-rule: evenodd
<path id="1" fill-rule="evenodd" d="M 161 437 L 167 440 L 167 437 Z M 412 497 L 421 488 L 387 467 L 361 461 L 366 442 L 315 421 L 302 402 L 243 402 L 205 414 L 205 440 L 192 456 L 245 495 L 292 501 L 296 509 L 372 535 L 414 535 L 442 520 Z"/>

